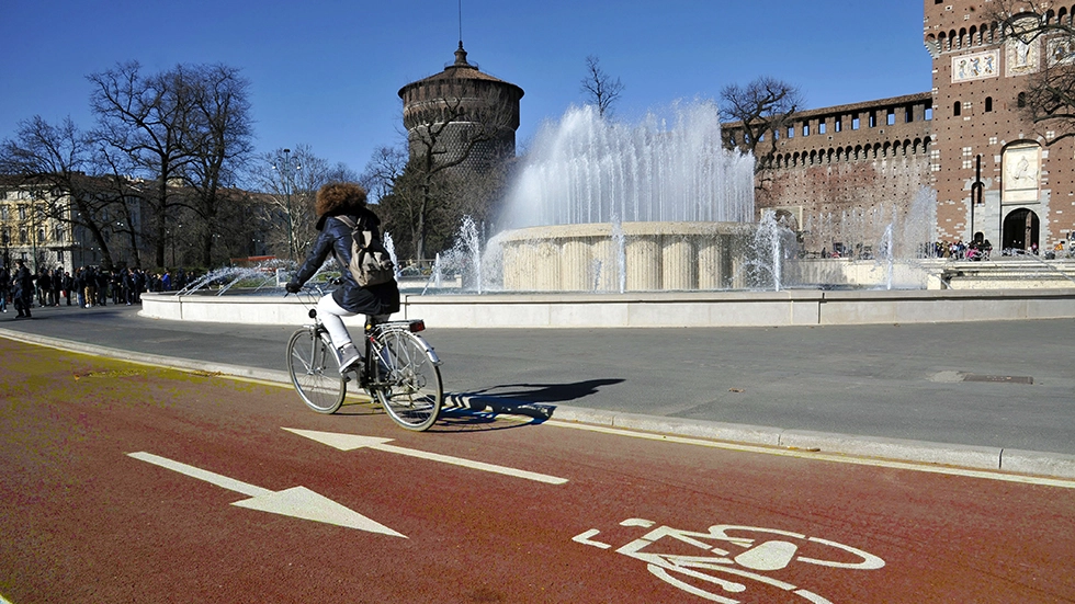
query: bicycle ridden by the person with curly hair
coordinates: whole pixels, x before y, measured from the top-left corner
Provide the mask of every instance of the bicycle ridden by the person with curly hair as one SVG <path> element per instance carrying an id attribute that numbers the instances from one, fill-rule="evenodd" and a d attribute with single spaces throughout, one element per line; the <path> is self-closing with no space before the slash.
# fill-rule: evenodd
<path id="1" fill-rule="evenodd" d="M 363 360 L 341 375 L 339 351 L 317 317 L 317 308 L 310 307 L 308 315 L 314 322 L 287 341 L 287 372 L 307 407 L 335 413 L 343 404 L 348 383 L 357 379 L 400 426 L 420 432 L 437 422 L 444 399 L 441 361 L 418 334 L 426 329 L 422 320 L 366 316 Z"/>

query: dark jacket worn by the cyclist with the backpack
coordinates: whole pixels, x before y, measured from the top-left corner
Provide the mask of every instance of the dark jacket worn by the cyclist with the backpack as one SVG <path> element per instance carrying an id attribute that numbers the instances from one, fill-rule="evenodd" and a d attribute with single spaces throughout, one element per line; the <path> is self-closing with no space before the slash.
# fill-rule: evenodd
<path id="1" fill-rule="evenodd" d="M 363 230 L 372 230 L 380 237 L 381 220 L 373 212 L 363 208 L 349 216 L 361 225 Z M 295 281 L 299 284 L 309 281 L 328 260 L 329 254 L 332 254 L 342 267 L 343 283 L 332 292 L 336 304 L 344 310 L 360 315 L 391 315 L 399 311 L 399 288 L 395 281 L 369 287 L 361 287 L 355 283 L 351 272 L 347 270 L 347 265 L 351 262 L 351 228 L 336 216 L 329 216 L 325 220 L 325 226 L 314 241 L 306 261 L 298 269 Z"/>

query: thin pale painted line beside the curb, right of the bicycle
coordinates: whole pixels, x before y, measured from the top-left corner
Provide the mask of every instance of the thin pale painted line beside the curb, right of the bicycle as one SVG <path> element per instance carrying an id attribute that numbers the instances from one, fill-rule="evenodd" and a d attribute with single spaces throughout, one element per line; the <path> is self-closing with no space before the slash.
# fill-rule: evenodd
<path id="1" fill-rule="evenodd" d="M 932 466 L 928 464 L 914 464 L 910 461 L 894 461 L 890 459 L 871 459 L 868 457 L 852 457 L 850 455 L 835 455 L 831 453 L 814 453 L 808 451 L 792 451 L 783 448 L 769 448 L 755 445 L 739 445 L 735 443 L 720 443 L 716 441 L 703 441 L 700 438 L 689 438 L 686 436 L 674 436 L 669 434 L 655 434 L 649 432 L 635 432 L 622 428 L 608 428 L 603 425 L 590 425 L 559 420 L 548 420 L 542 425 L 553 425 L 556 428 L 570 428 L 574 430 L 585 430 L 588 432 L 601 432 L 618 436 L 630 436 L 632 438 L 643 438 L 646 441 L 660 441 L 664 443 L 677 443 L 682 445 L 703 446 L 709 448 L 723 448 L 728 451 L 742 451 L 746 453 L 761 453 L 766 455 L 779 455 L 782 457 L 795 457 L 799 459 L 814 459 L 818 461 L 835 461 L 838 464 L 853 464 L 858 466 L 872 466 L 879 468 L 894 468 L 910 471 L 925 471 L 930 474 L 943 474 L 949 476 L 962 476 L 968 478 L 984 478 L 986 480 L 999 480 L 1002 482 L 1018 482 L 1022 485 L 1038 485 L 1043 487 L 1059 487 L 1061 489 L 1075 489 L 1075 480 L 1064 480 L 1060 478 L 1044 478 L 1039 476 L 1022 476 L 1016 474 L 1000 474 L 987 470 L 972 470 L 966 468 L 955 468 L 948 466 Z"/>

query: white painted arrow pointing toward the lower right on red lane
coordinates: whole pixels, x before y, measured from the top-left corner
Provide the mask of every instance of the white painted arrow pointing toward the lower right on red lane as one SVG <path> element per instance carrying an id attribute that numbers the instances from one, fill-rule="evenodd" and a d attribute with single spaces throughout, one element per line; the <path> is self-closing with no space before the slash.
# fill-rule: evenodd
<path id="1" fill-rule="evenodd" d="M 190 476 L 191 478 L 204 480 L 205 482 L 216 485 L 217 487 L 222 487 L 229 491 L 236 491 L 250 495 L 250 499 L 236 501 L 231 505 L 238 505 L 239 508 L 247 508 L 249 510 L 259 510 L 271 514 L 282 514 L 296 518 L 312 520 L 314 522 L 324 522 L 327 524 L 335 524 L 347 528 L 357 528 L 359 531 L 366 531 L 370 533 L 381 533 L 393 537 L 407 538 L 406 535 L 396 533 L 392 528 L 374 522 L 353 510 L 340 505 L 331 499 L 317 494 L 306 487 L 294 487 L 274 492 L 270 491 L 269 489 L 262 489 L 261 487 L 256 487 L 234 478 L 222 476 L 219 474 L 195 468 L 194 466 L 188 466 L 186 464 L 181 464 L 179 461 L 173 461 L 167 457 L 160 457 L 159 455 L 154 455 L 151 453 L 139 452 L 128 453 L 127 455 L 134 457 L 135 459 L 154 464 L 155 466 L 178 471 L 179 474 Z"/>

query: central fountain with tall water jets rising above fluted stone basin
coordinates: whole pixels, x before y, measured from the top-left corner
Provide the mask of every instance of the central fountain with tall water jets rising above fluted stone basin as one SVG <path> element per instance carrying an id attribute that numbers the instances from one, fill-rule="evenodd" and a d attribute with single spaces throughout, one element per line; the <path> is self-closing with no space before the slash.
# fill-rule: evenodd
<path id="1" fill-rule="evenodd" d="M 724 289 L 752 220 L 754 159 L 724 149 L 713 103 L 637 125 L 573 109 L 538 135 L 487 264 L 509 292 Z"/>

